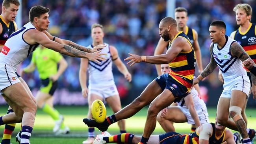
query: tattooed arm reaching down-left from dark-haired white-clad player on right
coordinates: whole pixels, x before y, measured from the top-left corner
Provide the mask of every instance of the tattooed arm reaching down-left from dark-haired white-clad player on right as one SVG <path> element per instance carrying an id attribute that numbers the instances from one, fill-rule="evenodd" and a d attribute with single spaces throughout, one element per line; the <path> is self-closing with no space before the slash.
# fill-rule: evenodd
<path id="1" fill-rule="evenodd" d="M 204 69 L 204 71 L 201 73 L 201 76 L 203 78 L 205 78 L 206 76 L 208 76 L 209 74 L 211 74 L 211 72 L 213 72 L 213 70 L 215 70 L 215 68 L 217 67 L 217 63 L 213 58 L 212 55 L 212 50 L 213 50 L 213 44 L 211 44 L 210 46 L 210 54 L 211 54 L 211 61 L 210 63 L 206 66 L 206 68 Z"/>

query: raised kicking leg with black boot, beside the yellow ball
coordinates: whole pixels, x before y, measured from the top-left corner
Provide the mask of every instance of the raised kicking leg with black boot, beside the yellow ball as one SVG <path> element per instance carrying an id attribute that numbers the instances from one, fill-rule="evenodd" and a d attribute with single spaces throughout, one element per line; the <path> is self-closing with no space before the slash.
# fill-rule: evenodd
<path id="1" fill-rule="evenodd" d="M 108 116 L 102 124 L 96 123 L 94 120 L 83 119 L 83 122 L 87 124 L 87 126 L 98 127 L 100 131 L 106 131 L 110 124 L 117 122 L 122 119 L 130 118 L 138 111 L 140 111 L 143 107 L 150 104 L 162 92 L 161 87 L 158 85 L 156 80 L 153 80 L 146 89 L 141 93 L 139 97 L 137 97 L 132 103 L 122 108 L 119 112 L 113 114 L 112 116 Z M 109 119 L 109 120 L 107 120 Z"/>

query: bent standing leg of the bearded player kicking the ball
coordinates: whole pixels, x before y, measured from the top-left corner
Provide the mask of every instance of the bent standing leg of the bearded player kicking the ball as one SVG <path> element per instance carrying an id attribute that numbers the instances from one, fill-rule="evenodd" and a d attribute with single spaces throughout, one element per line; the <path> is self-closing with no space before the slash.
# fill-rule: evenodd
<path id="1" fill-rule="evenodd" d="M 152 103 L 150 103 L 147 113 L 147 120 L 143 131 L 143 136 L 140 143 L 146 144 L 148 138 L 156 127 L 156 116 L 165 107 L 171 105 L 175 100 L 173 93 L 169 89 L 163 90 L 163 92 L 156 97 Z"/>

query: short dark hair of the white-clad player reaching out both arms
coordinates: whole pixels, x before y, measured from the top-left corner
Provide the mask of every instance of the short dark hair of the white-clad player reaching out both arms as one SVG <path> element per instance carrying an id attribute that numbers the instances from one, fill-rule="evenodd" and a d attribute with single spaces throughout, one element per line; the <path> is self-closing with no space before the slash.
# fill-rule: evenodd
<path id="1" fill-rule="evenodd" d="M 33 6 L 29 11 L 29 20 L 30 22 L 34 21 L 35 17 L 40 17 L 41 15 L 48 13 L 50 9 L 43 6 Z"/>

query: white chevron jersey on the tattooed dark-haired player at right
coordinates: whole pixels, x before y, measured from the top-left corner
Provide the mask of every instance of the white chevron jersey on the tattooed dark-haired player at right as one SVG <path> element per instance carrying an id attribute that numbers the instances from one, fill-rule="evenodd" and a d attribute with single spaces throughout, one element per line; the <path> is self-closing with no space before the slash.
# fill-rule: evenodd
<path id="1" fill-rule="evenodd" d="M 246 71 L 242 66 L 242 61 L 240 61 L 238 57 L 233 57 L 231 55 L 231 44 L 236 41 L 227 35 L 225 37 L 226 43 L 223 48 L 219 48 L 217 44 L 213 44 L 212 55 L 222 72 L 224 81 L 228 81 L 229 79 L 246 74 Z"/>

